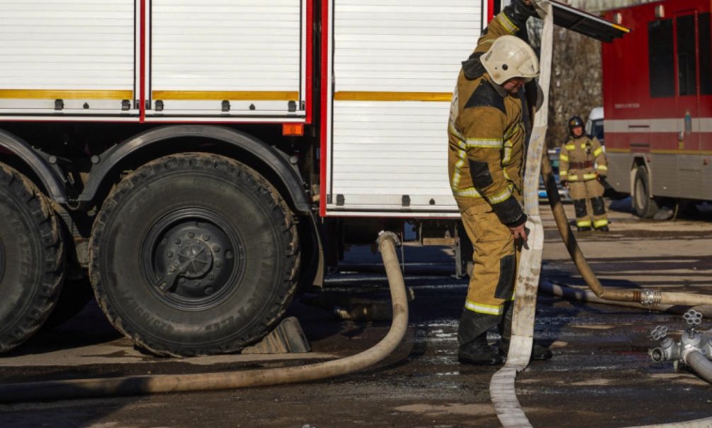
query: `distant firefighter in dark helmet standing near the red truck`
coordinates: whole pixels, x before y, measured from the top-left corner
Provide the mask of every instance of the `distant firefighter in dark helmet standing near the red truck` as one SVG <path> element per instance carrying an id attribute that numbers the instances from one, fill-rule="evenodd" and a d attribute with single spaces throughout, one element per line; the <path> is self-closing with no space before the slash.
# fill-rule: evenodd
<path id="1" fill-rule="evenodd" d="M 608 232 L 604 188 L 600 183 L 608 173 L 603 148 L 596 137 L 584 133 L 583 121 L 578 116 L 569 119 L 569 132 L 569 139 L 561 146 L 559 177 L 574 201 L 576 227 L 580 232 L 592 229 Z"/>

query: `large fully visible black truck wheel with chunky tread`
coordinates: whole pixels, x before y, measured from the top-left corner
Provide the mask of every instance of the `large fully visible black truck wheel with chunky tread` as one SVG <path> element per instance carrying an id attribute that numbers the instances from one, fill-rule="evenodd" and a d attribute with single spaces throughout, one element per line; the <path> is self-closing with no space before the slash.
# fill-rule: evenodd
<path id="1" fill-rule="evenodd" d="M 98 214 L 90 278 L 109 321 L 163 355 L 239 351 L 283 315 L 299 276 L 295 221 L 248 166 L 177 154 L 124 178 Z"/>

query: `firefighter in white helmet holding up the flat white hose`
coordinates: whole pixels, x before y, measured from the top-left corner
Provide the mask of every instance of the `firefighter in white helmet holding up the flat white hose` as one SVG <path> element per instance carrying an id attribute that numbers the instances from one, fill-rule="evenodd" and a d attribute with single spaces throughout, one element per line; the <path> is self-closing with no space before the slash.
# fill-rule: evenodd
<path id="1" fill-rule="evenodd" d="M 536 54 L 512 36 L 533 9 L 515 1 L 499 14 L 463 63 L 449 120 L 449 176 L 464 228 L 473 242 L 474 268 L 458 331 L 461 363 L 500 364 L 487 342 L 498 326 L 500 351 L 511 336 L 517 260 L 527 239 L 522 200 L 526 129 L 520 89 L 539 73 Z M 548 359 L 535 345 L 534 359 Z"/>

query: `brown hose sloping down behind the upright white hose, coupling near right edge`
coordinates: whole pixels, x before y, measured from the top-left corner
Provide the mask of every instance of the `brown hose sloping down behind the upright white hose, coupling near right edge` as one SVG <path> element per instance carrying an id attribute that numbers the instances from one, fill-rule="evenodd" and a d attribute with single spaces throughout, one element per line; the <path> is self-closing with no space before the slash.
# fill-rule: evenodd
<path id="1" fill-rule="evenodd" d="M 674 293 L 669 291 L 641 290 L 641 289 L 610 289 L 603 287 L 591 267 L 586 262 L 580 247 L 576 242 L 571 229 L 569 228 L 564 207 L 561 204 L 559 191 L 551 170 L 551 163 L 548 156 L 542 156 L 541 175 L 546 186 L 546 193 L 554 214 L 556 226 L 559 229 L 561 239 L 566 245 L 566 249 L 571 255 L 576 268 L 588 287 L 601 299 L 608 301 L 632 301 L 644 305 L 669 304 L 669 305 L 712 305 L 712 296 L 706 294 Z"/>

